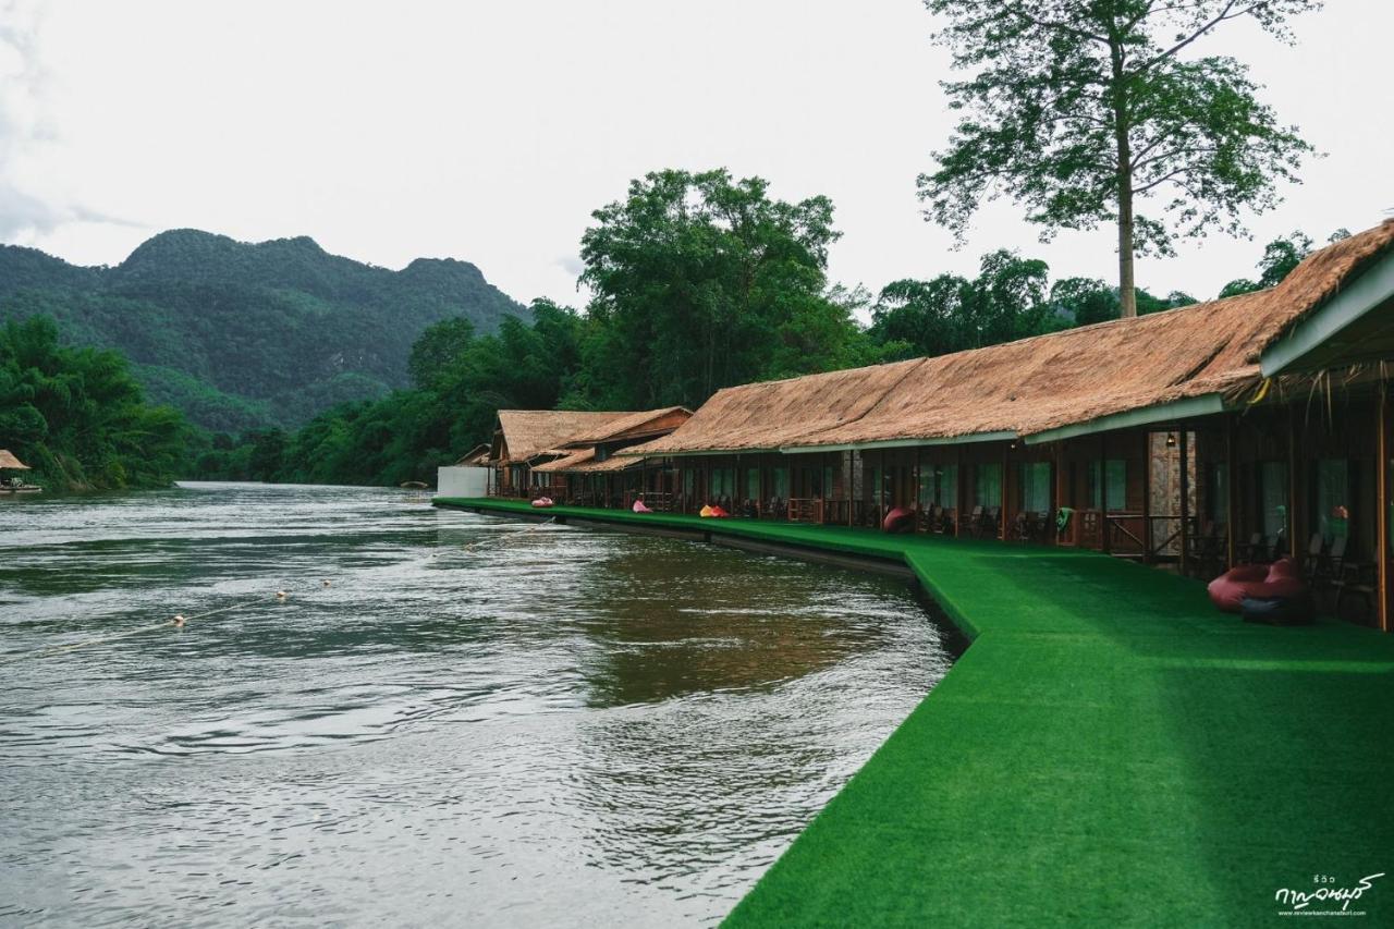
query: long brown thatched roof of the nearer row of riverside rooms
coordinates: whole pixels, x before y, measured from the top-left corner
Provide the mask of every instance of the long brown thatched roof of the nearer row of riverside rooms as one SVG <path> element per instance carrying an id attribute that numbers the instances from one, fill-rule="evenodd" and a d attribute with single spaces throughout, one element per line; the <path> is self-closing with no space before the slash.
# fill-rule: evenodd
<path id="1" fill-rule="evenodd" d="M 1006 345 L 717 392 L 623 453 L 711 453 L 1036 435 L 1259 377 L 1259 356 L 1394 243 L 1394 220 L 1308 257 L 1270 290 Z"/>

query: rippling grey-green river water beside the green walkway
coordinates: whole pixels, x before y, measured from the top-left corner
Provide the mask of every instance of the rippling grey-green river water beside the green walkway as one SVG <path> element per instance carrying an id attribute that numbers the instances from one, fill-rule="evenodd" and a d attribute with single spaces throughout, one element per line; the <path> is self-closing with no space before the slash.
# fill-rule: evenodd
<path id="1" fill-rule="evenodd" d="M 951 661 L 894 580 L 250 484 L 0 504 L 0 636 L 6 925 L 710 925 Z"/>

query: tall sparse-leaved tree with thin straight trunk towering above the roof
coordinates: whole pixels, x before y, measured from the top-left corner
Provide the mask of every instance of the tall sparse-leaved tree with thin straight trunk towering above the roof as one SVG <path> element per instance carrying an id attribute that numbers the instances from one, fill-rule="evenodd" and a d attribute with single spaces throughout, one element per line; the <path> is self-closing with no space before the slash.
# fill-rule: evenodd
<path id="1" fill-rule="evenodd" d="M 1288 39 L 1319 0 L 926 0 L 963 114 L 938 169 L 921 174 L 926 216 L 960 239 L 979 205 L 1006 192 L 1027 219 L 1118 229 L 1121 314 L 1136 315 L 1133 255 L 1174 254 L 1178 234 L 1242 232 L 1239 212 L 1277 202 L 1312 146 L 1256 99 L 1228 56 L 1189 57 L 1241 18 Z M 1160 198 L 1160 215 L 1135 212 Z M 1164 222 L 1164 219 L 1171 220 Z"/>

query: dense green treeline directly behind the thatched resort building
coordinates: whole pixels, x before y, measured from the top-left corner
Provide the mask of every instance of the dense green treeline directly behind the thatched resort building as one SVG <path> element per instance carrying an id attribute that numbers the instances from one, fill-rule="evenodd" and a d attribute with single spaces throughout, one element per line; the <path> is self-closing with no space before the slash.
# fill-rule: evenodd
<path id="1" fill-rule="evenodd" d="M 585 314 L 538 300 L 533 325 L 506 318 L 492 335 L 468 319 L 441 321 L 411 349 L 411 388 L 339 405 L 298 432 L 213 437 L 195 471 L 432 481 L 439 464 L 489 439 L 499 409 L 696 407 L 732 384 L 944 354 L 1119 314 L 1117 287 L 1052 282 L 1044 261 L 1009 251 L 986 255 L 972 279 L 896 280 L 874 299 L 828 287 L 825 246 L 836 233 L 827 201 L 771 201 L 763 181 L 723 172 L 651 174 L 595 218 L 584 240 L 595 290 Z M 1263 279 L 1291 271 L 1303 241 L 1270 244 Z M 1139 292 L 1138 303 L 1154 312 L 1195 300 Z"/>

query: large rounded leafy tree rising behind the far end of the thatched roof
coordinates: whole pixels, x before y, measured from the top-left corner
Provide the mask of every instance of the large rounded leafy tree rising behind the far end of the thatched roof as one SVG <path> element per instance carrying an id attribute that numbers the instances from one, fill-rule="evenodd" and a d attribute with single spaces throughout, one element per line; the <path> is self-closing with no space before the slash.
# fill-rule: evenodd
<path id="1" fill-rule="evenodd" d="M 796 329 L 827 325 L 832 202 L 774 199 L 768 187 L 726 170 L 655 172 L 592 213 L 580 389 L 601 409 L 696 406 L 758 379 Z"/>

